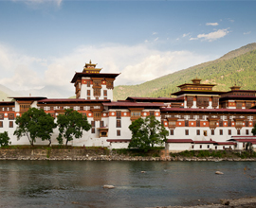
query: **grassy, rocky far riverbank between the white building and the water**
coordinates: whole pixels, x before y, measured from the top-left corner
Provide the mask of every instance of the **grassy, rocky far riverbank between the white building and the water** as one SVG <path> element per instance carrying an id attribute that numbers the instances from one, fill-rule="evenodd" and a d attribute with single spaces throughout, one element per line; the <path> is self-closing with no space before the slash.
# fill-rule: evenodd
<path id="1" fill-rule="evenodd" d="M 202 153 L 202 152 L 201 152 Z M 119 150 L 105 147 L 67 147 L 67 148 L 0 148 L 0 160 L 49 160 L 49 161 L 256 161 L 256 158 L 241 158 L 229 152 L 221 157 L 210 154 L 202 156 L 182 156 L 168 154 L 165 150 L 139 155 L 124 154 Z"/>

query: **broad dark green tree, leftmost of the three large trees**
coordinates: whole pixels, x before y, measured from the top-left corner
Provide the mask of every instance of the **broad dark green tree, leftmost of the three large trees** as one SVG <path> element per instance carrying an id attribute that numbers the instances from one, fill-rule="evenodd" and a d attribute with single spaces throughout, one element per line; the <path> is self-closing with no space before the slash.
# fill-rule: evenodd
<path id="1" fill-rule="evenodd" d="M 15 123 L 18 127 L 13 134 L 18 140 L 22 136 L 27 136 L 31 146 L 36 142 L 36 138 L 41 138 L 42 141 L 48 140 L 50 146 L 53 129 L 57 126 L 49 113 L 36 108 L 31 108 L 22 116 L 18 116 Z"/>

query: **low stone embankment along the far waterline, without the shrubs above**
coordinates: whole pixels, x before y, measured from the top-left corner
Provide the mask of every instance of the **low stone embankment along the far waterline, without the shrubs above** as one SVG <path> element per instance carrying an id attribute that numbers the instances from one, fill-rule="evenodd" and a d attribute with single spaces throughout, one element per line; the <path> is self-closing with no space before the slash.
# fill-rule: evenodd
<path id="1" fill-rule="evenodd" d="M 127 156 L 108 149 L 0 149 L 0 160 L 70 160 L 70 161 L 256 161 L 240 158 L 187 158 L 170 157 L 161 152 L 160 157 Z"/>

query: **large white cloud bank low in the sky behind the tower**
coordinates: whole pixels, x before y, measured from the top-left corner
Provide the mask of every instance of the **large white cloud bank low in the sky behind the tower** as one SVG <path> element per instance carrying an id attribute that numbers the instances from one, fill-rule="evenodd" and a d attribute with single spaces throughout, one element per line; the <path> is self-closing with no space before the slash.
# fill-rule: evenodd
<path id="1" fill-rule="evenodd" d="M 121 73 L 117 86 L 143 83 L 210 58 L 190 51 L 159 51 L 147 44 L 105 44 L 82 45 L 65 56 L 43 60 L 0 45 L 0 83 L 12 90 L 56 86 L 74 92 L 70 81 L 90 60 L 99 63 L 102 73 Z"/>

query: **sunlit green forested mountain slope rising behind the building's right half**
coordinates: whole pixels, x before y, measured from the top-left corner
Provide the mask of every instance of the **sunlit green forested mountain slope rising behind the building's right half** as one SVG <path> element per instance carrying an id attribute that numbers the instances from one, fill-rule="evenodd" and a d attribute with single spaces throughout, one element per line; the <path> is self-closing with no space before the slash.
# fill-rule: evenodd
<path id="1" fill-rule="evenodd" d="M 223 57 L 204 62 L 173 74 L 155 78 L 139 85 L 119 85 L 114 89 L 114 99 L 127 96 L 170 97 L 180 84 L 201 78 L 201 83 L 215 84 L 213 90 L 229 91 L 234 84 L 242 89 L 256 90 L 256 43 L 230 51 Z"/>

